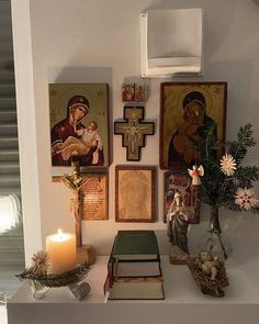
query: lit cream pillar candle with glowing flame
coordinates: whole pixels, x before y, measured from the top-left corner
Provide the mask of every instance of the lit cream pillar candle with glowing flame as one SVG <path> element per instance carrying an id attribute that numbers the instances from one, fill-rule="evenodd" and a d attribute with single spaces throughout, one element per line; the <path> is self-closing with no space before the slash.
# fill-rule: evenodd
<path id="1" fill-rule="evenodd" d="M 61 273 L 76 267 L 76 235 L 63 233 L 46 237 L 46 252 L 50 258 L 50 273 Z"/>

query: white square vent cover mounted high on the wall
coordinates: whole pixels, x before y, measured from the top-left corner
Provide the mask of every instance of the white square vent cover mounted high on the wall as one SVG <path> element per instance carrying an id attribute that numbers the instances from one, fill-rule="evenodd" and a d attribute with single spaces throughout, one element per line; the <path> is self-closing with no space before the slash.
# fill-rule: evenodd
<path id="1" fill-rule="evenodd" d="M 140 33 L 142 77 L 202 74 L 202 9 L 142 13 Z"/>

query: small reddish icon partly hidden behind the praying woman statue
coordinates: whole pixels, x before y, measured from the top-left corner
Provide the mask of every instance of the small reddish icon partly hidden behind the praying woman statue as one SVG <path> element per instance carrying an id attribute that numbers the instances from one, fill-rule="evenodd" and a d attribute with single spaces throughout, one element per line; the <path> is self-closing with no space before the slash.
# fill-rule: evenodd
<path id="1" fill-rule="evenodd" d="M 183 198 L 183 205 L 188 212 L 190 224 L 200 223 L 201 192 L 200 186 L 192 185 L 192 178 L 176 171 L 164 174 L 164 222 L 167 223 L 167 214 L 173 202 L 176 192 Z"/>

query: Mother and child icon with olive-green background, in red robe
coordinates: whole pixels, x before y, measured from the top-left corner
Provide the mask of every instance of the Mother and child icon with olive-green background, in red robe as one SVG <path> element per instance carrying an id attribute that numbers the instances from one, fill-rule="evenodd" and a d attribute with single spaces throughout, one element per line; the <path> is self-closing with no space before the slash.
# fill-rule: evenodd
<path id="1" fill-rule="evenodd" d="M 48 90 L 53 169 L 72 159 L 81 167 L 108 167 L 109 86 L 50 83 Z"/>

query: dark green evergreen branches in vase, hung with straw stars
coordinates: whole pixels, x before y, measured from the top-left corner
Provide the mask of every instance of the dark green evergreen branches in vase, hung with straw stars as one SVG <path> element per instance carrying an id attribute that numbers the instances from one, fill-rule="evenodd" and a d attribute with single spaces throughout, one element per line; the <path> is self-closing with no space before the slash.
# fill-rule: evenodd
<path id="1" fill-rule="evenodd" d="M 201 178 L 201 199 L 213 208 L 224 206 L 232 211 L 241 211 L 235 203 L 237 189 L 250 188 L 252 182 L 259 181 L 259 167 L 243 166 L 248 148 L 256 145 L 252 137 L 252 125 L 245 124 L 237 132 L 237 139 L 218 142 L 213 134 L 213 126 L 204 133 L 204 138 L 193 143 L 199 156 L 199 164 L 204 168 L 204 176 Z M 226 176 L 221 170 L 221 157 L 226 153 L 230 154 L 236 161 L 234 175 Z M 222 154 L 221 154 L 222 153 Z M 259 208 L 251 208 L 252 212 L 259 213 Z"/>

